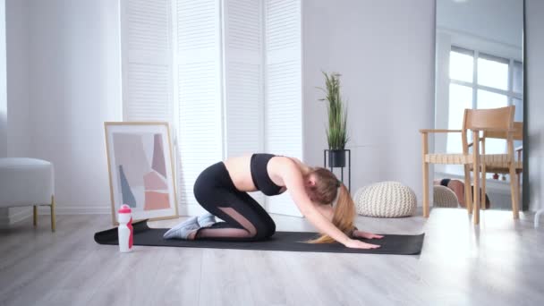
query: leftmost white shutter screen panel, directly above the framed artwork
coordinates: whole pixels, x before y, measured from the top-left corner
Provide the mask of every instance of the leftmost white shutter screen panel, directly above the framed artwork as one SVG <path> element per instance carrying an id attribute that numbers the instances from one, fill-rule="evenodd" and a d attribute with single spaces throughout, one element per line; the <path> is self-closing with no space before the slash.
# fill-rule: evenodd
<path id="1" fill-rule="evenodd" d="M 123 120 L 172 122 L 169 0 L 122 0 Z"/>

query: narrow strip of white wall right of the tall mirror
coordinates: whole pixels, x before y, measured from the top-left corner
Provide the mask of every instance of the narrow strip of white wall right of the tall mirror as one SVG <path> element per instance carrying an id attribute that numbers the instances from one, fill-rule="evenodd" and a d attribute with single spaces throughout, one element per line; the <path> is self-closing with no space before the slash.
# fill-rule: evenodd
<path id="1" fill-rule="evenodd" d="M 527 136 L 530 209 L 544 208 L 544 1 L 526 0 Z"/>

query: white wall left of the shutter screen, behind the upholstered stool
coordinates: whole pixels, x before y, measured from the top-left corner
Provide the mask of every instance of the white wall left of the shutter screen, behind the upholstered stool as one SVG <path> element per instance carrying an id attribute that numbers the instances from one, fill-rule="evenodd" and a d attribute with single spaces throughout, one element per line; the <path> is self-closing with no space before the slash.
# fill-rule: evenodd
<path id="1" fill-rule="evenodd" d="M 7 2 L 10 154 L 54 164 L 59 214 L 109 213 L 104 122 L 122 118 L 118 1 Z"/>

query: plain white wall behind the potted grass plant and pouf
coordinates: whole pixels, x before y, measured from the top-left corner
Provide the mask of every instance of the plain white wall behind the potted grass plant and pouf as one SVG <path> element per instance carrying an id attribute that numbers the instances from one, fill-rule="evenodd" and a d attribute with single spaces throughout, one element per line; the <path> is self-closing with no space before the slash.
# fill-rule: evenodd
<path id="1" fill-rule="evenodd" d="M 304 161 L 323 165 L 327 113 L 321 70 L 342 73 L 352 192 L 380 181 L 421 199 L 421 136 L 434 122 L 433 0 L 302 2 Z"/>

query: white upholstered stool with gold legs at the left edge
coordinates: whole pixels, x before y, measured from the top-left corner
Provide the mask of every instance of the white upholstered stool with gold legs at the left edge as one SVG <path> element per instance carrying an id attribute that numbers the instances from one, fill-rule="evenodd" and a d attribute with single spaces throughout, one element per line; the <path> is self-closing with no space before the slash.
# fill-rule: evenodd
<path id="1" fill-rule="evenodd" d="M 35 158 L 0 158 L 0 208 L 34 206 L 34 225 L 38 205 L 51 207 L 51 230 L 55 232 L 53 164 Z"/>

